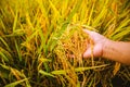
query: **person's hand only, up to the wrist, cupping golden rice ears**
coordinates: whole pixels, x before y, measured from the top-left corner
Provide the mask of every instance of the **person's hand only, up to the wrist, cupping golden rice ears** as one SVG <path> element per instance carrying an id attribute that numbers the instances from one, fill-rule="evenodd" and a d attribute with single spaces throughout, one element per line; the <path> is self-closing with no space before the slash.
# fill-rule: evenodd
<path id="1" fill-rule="evenodd" d="M 104 36 L 100 35 L 95 32 L 91 32 L 88 29 L 83 29 L 83 32 L 89 34 L 90 38 L 94 42 L 93 55 L 94 57 L 102 57 L 103 55 L 103 48 L 104 48 L 105 42 L 107 41 L 107 38 L 105 38 Z M 83 53 L 83 58 L 91 58 L 91 52 L 92 52 L 91 45 L 89 44 L 86 52 Z"/>

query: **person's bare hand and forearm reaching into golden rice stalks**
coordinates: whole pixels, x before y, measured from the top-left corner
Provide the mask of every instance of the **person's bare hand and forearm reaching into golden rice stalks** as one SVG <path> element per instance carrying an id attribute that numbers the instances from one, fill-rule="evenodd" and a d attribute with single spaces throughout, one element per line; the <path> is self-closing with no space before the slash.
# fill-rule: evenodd
<path id="1" fill-rule="evenodd" d="M 94 42 L 93 55 L 95 58 L 102 57 L 130 65 L 130 42 L 113 41 L 95 32 L 88 29 L 83 29 L 83 32 L 89 34 L 90 38 Z M 87 47 L 83 58 L 91 58 L 90 46 Z"/>

